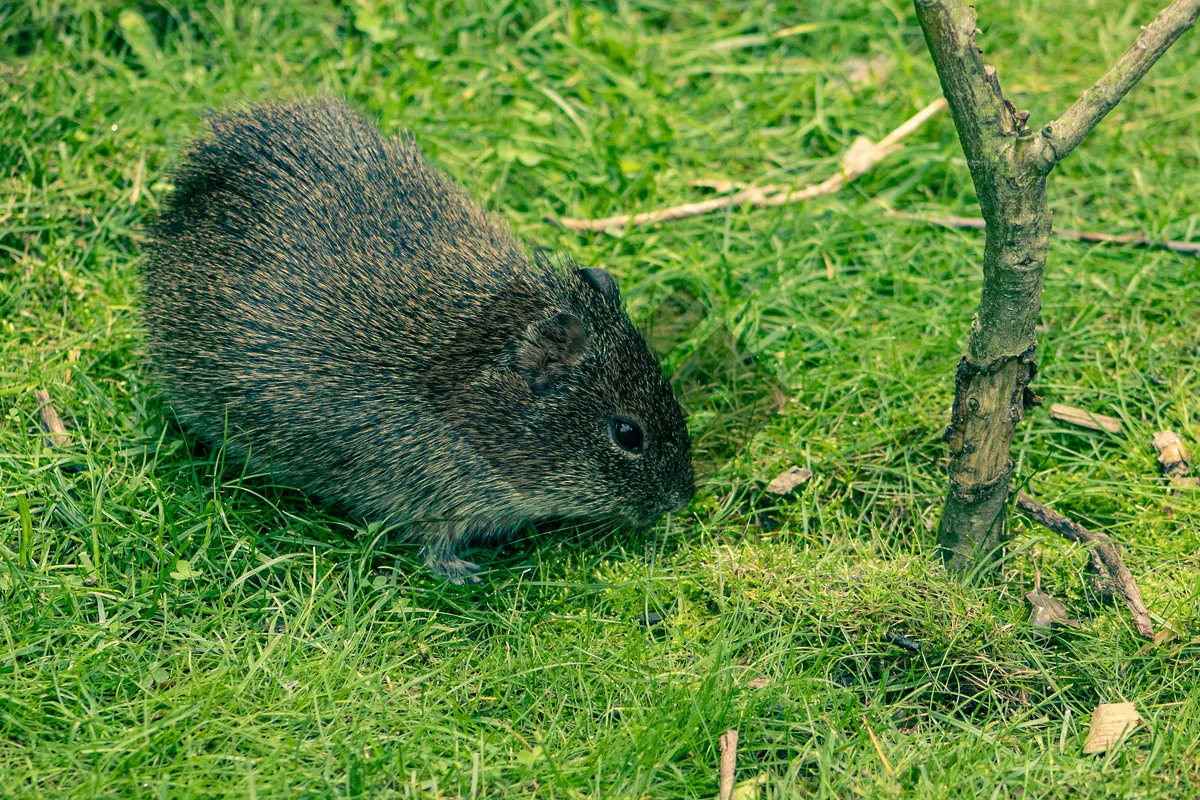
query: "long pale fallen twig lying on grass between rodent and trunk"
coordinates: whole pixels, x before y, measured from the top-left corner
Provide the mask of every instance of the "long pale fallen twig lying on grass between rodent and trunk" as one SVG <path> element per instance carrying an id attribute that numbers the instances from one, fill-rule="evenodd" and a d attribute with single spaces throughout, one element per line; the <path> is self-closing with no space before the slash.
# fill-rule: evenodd
<path id="1" fill-rule="evenodd" d="M 841 169 L 838 174 L 820 184 L 814 184 L 793 191 L 785 191 L 785 187 L 775 185 L 763 187 L 750 186 L 734 194 L 702 200 L 700 203 L 685 203 L 683 205 L 676 205 L 667 209 L 658 209 L 656 211 L 644 211 L 642 213 L 634 215 L 623 213 L 616 217 L 605 217 L 602 219 L 572 219 L 570 217 L 558 218 L 547 216 L 546 222 L 562 225 L 568 230 L 599 231 L 612 230 L 616 228 L 637 228 L 638 225 L 649 225 L 659 222 L 698 217 L 704 213 L 712 213 L 713 211 L 720 211 L 721 209 L 736 207 L 740 205 L 751 205 L 756 209 L 766 209 L 787 205 L 788 203 L 811 200 L 812 198 L 836 192 L 842 186 L 854 180 L 878 162 L 883 161 L 888 154 L 900 146 L 901 139 L 910 136 L 913 131 L 929 121 L 930 118 L 940 114 L 944 108 L 946 100 L 935 100 L 932 103 L 920 109 L 917 114 L 908 119 L 904 125 L 884 137 L 881 142 L 871 143 L 869 139 L 859 138 L 859 140 L 842 155 Z"/>

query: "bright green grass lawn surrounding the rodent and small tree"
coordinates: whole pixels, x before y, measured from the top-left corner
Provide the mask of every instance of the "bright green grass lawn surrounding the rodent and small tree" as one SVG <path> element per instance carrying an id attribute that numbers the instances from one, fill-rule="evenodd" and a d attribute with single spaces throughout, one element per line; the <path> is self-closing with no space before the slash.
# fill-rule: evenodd
<path id="1" fill-rule="evenodd" d="M 124 10 L 0 5 L 0 794 L 712 798 L 730 727 L 739 777 L 768 774 L 775 798 L 1200 794 L 1200 493 L 1169 497 L 1150 447 L 1171 428 L 1200 450 L 1200 259 L 1056 242 L 1036 385 L 1127 437 L 1044 410 L 1018 434 L 1020 480 L 1121 541 L 1178 631 L 1144 649 L 1085 554 L 1027 522 L 984 585 L 934 552 L 983 242 L 884 206 L 977 212 L 948 118 L 818 203 L 624 236 L 541 222 L 685 201 L 700 178 L 832 174 L 938 94 L 906 5 Z M 1006 0 L 982 42 L 1044 121 L 1156 11 Z M 877 83 L 841 77 L 875 56 Z M 194 445 L 143 361 L 139 230 L 205 109 L 316 91 L 413 130 L 527 241 L 618 273 L 635 312 L 700 294 L 793 402 L 682 517 L 544 531 L 480 554 L 468 588 Z M 1051 203 L 1064 227 L 1200 236 L 1200 36 L 1055 173 Z M 65 449 L 42 446 L 38 387 Z M 793 463 L 816 476 L 763 530 L 761 487 Z M 1037 573 L 1078 631 L 1033 636 Z M 1115 700 L 1147 724 L 1082 756 Z"/>

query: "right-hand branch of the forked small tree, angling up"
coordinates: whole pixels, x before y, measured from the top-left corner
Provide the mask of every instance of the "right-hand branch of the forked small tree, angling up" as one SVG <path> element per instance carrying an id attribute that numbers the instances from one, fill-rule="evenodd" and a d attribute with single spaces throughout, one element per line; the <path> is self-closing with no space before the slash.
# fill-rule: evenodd
<path id="1" fill-rule="evenodd" d="M 1030 166 L 1043 174 L 1054 169 L 1055 164 L 1066 158 L 1084 137 L 1116 108 L 1121 98 L 1150 72 L 1175 40 L 1196 24 L 1198 17 L 1200 17 L 1200 0 L 1175 0 L 1164 8 L 1091 89 L 1030 142 L 1026 151 Z"/>

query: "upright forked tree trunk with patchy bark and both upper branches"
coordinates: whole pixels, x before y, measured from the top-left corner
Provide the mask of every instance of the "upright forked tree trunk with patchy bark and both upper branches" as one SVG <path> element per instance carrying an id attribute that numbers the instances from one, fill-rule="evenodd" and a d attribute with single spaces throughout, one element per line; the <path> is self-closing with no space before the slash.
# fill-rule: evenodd
<path id="1" fill-rule="evenodd" d="M 1200 0 L 1171 4 L 1061 119 L 1038 132 L 984 62 L 974 7 L 962 0 L 914 2 L 986 222 L 983 293 L 944 437 L 950 494 L 938 530 L 947 565 L 966 575 L 1002 551 L 1013 432 L 1033 401 L 1034 326 L 1051 230 L 1046 175 L 1195 24 Z"/>

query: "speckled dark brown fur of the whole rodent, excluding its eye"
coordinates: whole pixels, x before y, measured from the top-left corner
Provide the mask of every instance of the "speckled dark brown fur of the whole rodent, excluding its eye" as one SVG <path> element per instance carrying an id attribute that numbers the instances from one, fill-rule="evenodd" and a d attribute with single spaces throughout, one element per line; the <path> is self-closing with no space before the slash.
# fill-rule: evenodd
<path id="1" fill-rule="evenodd" d="M 599 270 L 508 228 L 340 101 L 211 120 L 143 269 L 152 362 L 199 437 L 365 519 L 454 581 L 474 535 L 649 524 L 692 494 L 658 361 Z M 644 431 L 613 441 L 614 416 Z"/>

